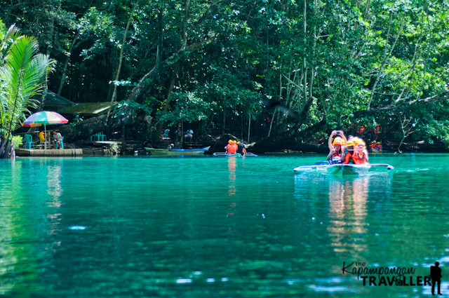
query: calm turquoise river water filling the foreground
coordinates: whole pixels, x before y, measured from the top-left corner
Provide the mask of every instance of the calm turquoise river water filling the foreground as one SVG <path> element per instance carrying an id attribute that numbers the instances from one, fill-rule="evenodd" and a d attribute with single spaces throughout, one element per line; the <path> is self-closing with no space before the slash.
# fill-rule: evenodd
<path id="1" fill-rule="evenodd" d="M 367 268 L 441 263 L 449 155 L 371 156 L 391 174 L 295 175 L 320 154 L 19 158 L 0 163 L 0 297 L 422 297 Z"/>

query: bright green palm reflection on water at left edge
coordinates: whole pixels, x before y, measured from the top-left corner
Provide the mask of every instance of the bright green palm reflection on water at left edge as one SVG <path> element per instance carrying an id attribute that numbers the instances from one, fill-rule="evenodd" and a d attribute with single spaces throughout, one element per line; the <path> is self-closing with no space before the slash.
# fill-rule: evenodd
<path id="1" fill-rule="evenodd" d="M 30 172 L 20 162 L 0 175 L 0 296 L 31 297 L 40 292 L 34 229 L 28 200 Z M 25 179 L 24 179 L 25 177 Z M 25 182 L 24 182 L 25 181 Z M 30 290 L 32 289 L 32 290 Z"/>

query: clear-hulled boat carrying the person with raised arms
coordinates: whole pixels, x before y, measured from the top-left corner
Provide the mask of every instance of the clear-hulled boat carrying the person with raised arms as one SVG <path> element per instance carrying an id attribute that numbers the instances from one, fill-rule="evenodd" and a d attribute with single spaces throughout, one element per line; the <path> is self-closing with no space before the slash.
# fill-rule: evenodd
<path id="1" fill-rule="evenodd" d="M 294 169 L 295 172 L 317 172 L 331 175 L 363 175 L 370 172 L 389 172 L 394 167 L 387 163 L 367 163 L 354 165 L 353 163 L 337 163 L 334 165 L 302 165 Z"/>

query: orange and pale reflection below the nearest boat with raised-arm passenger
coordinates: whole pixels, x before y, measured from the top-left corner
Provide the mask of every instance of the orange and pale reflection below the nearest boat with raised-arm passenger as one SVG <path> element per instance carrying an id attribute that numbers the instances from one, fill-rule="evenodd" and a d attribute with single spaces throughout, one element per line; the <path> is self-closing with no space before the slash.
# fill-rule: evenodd
<path id="1" fill-rule="evenodd" d="M 310 187 L 314 185 L 314 187 Z M 296 175 L 297 198 L 328 201 L 326 231 L 328 245 L 337 255 L 361 257 L 367 252 L 369 231 L 368 203 L 388 199 L 391 175 L 333 177 L 330 175 Z M 312 211 L 318 214 L 319 211 Z"/>

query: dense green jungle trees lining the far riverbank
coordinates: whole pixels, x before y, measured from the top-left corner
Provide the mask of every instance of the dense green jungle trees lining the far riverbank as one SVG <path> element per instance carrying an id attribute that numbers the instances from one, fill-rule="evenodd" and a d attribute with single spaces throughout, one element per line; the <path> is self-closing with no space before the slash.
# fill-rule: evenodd
<path id="1" fill-rule="evenodd" d="M 74 102 L 116 97 L 165 125 L 269 117 L 267 135 L 291 141 L 380 124 L 449 144 L 445 1 L 2 2 Z"/>

